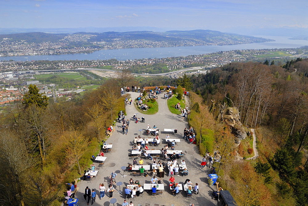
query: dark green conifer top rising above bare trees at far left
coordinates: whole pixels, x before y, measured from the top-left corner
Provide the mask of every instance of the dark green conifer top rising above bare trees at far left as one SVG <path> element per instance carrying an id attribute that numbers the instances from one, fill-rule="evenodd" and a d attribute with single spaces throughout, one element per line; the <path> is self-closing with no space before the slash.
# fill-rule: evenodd
<path id="1" fill-rule="evenodd" d="M 42 94 L 39 94 L 39 89 L 36 85 L 30 84 L 28 87 L 29 91 L 23 96 L 23 102 L 26 107 L 30 105 L 36 105 L 38 107 L 47 107 L 48 97 Z"/>

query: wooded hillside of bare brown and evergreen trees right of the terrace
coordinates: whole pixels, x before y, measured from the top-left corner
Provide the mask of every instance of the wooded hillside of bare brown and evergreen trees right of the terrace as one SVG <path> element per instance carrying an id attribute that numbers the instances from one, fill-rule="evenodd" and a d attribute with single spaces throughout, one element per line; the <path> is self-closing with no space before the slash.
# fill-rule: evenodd
<path id="1" fill-rule="evenodd" d="M 190 80 L 214 117 L 225 103 L 238 109 L 244 126 L 256 128 L 259 157 L 249 164 L 269 189 L 272 205 L 307 205 L 308 59 L 297 58 L 283 66 L 269 66 L 267 60 L 231 63 Z M 241 144 L 237 154 L 244 156 Z M 228 169 L 224 179 L 238 176 L 239 171 L 246 172 Z M 240 187 L 232 183 L 228 190 L 237 194 Z"/>

